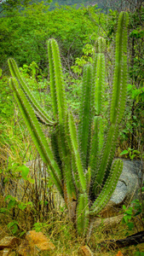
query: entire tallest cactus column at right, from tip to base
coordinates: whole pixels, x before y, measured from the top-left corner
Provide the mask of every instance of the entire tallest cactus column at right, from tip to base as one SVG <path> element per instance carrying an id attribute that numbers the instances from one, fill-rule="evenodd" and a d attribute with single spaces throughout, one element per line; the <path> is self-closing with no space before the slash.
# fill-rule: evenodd
<path id="1" fill-rule="evenodd" d="M 112 102 L 110 108 L 110 126 L 107 132 L 107 140 L 104 143 L 101 156 L 96 165 L 95 183 L 93 186 L 93 195 L 101 192 L 104 184 L 107 183 L 111 175 L 112 160 L 118 138 L 118 125 L 124 113 L 126 100 L 126 83 L 127 83 L 127 26 L 128 14 L 122 12 L 118 18 L 118 29 L 116 34 L 115 50 L 115 69 L 113 74 L 112 85 Z M 117 166 L 117 165 L 116 165 Z M 118 169 L 117 169 L 118 170 Z M 114 171 L 119 172 L 119 171 Z M 114 183 L 114 181 L 113 181 Z M 99 192 L 98 192 L 99 191 Z M 108 197 L 107 197 L 108 198 Z"/>

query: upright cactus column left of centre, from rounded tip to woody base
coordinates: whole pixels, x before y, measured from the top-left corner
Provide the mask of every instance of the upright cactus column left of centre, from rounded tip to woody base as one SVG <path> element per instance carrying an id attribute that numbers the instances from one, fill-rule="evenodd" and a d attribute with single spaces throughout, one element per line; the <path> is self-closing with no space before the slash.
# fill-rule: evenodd
<path id="1" fill-rule="evenodd" d="M 50 93 L 52 98 L 53 113 L 56 120 L 55 129 L 52 129 L 52 148 L 55 160 L 60 166 L 63 182 L 63 192 L 69 215 L 73 216 L 77 195 L 72 181 L 71 154 L 66 143 L 66 95 L 60 63 L 60 52 L 55 39 L 48 41 Z"/>

